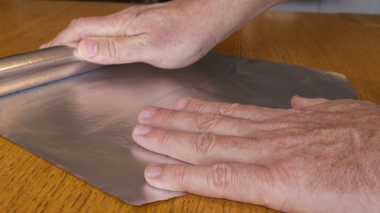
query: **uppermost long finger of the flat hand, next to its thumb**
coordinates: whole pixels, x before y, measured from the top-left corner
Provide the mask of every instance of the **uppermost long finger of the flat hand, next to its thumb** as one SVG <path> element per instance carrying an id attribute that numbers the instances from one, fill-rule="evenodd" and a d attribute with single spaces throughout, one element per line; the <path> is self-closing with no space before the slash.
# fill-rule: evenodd
<path id="1" fill-rule="evenodd" d="M 179 99 L 175 102 L 174 109 L 199 113 L 211 112 L 236 118 L 245 118 L 257 122 L 299 112 L 299 110 L 295 109 L 274 109 L 254 105 L 209 102 L 193 98 Z"/>

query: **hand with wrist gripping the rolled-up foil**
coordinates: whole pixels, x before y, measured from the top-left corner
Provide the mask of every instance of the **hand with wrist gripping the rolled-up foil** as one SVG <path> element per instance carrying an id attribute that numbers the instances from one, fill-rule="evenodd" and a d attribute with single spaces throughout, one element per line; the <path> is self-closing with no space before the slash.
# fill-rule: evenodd
<path id="1" fill-rule="evenodd" d="M 79 59 L 98 64 L 180 68 L 280 1 L 173 0 L 134 6 L 110 16 L 74 19 L 40 48 L 77 47 Z"/>

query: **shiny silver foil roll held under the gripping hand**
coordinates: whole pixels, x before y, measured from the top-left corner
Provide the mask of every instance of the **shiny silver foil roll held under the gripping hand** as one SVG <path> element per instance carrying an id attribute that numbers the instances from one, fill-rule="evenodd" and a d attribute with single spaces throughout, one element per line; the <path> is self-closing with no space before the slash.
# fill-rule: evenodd
<path id="1" fill-rule="evenodd" d="M 102 67 L 78 61 L 73 50 L 59 46 L 1 58 L 0 96 Z"/>

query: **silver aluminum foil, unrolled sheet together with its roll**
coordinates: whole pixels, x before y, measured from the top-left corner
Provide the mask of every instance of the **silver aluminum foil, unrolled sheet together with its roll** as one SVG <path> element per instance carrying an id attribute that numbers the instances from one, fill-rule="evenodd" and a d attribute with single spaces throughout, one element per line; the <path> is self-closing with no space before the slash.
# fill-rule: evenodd
<path id="1" fill-rule="evenodd" d="M 289 108 L 296 94 L 356 97 L 342 74 L 300 66 L 210 52 L 176 70 L 144 63 L 99 68 L 76 61 L 67 47 L 1 58 L 0 91 L 3 137 L 134 205 L 184 195 L 144 179 L 150 163 L 183 163 L 133 142 L 144 106 L 172 108 L 178 98 L 194 97 Z"/>

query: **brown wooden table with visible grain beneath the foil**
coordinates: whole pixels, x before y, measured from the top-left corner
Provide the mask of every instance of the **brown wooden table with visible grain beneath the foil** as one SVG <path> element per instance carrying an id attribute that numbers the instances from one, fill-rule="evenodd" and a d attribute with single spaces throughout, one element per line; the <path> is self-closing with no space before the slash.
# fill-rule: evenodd
<path id="1" fill-rule="evenodd" d="M 1 0 L 0 57 L 38 49 L 73 18 L 111 14 L 128 6 L 110 2 Z M 358 99 L 380 103 L 379 16 L 269 11 L 214 49 L 341 72 L 358 91 Z M 4 210 L 274 212 L 197 195 L 132 206 L 0 137 L 0 212 Z"/>

